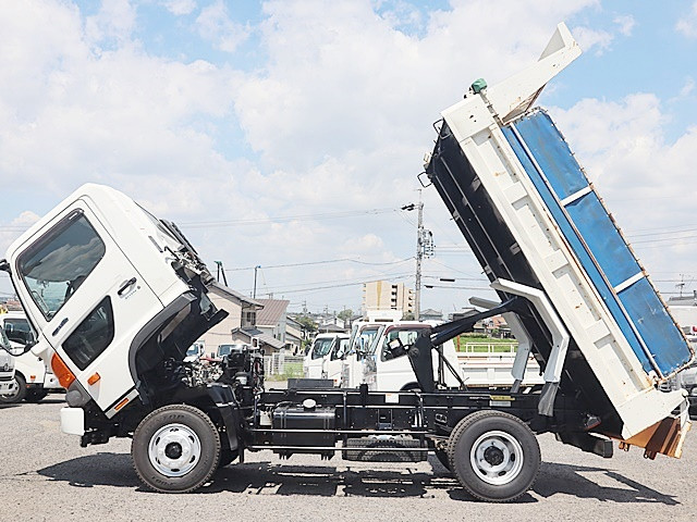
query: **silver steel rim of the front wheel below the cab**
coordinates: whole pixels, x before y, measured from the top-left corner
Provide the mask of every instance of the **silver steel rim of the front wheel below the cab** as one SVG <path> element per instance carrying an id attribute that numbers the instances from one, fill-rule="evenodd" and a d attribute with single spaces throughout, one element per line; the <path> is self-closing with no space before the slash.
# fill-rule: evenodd
<path id="1" fill-rule="evenodd" d="M 196 467 L 200 453 L 198 435 L 184 424 L 160 427 L 148 444 L 150 463 L 164 476 L 184 476 Z"/>

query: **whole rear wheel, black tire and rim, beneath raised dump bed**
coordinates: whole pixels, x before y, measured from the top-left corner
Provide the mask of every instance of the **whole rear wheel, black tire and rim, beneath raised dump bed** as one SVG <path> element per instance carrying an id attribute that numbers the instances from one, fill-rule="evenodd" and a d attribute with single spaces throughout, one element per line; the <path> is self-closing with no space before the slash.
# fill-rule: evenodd
<path id="1" fill-rule="evenodd" d="M 540 468 L 537 437 L 518 418 L 477 411 L 455 426 L 448 444 L 450 469 L 473 497 L 510 502 L 535 483 Z"/>

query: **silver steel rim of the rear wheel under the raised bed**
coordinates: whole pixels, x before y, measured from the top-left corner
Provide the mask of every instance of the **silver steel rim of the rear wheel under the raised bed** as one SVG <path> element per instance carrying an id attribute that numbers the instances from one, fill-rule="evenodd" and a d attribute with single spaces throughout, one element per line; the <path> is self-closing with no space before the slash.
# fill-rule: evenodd
<path id="1" fill-rule="evenodd" d="M 480 435 L 469 452 L 469 462 L 475 474 L 494 486 L 502 486 L 515 480 L 523 470 L 523 461 L 521 444 L 502 431 Z"/>

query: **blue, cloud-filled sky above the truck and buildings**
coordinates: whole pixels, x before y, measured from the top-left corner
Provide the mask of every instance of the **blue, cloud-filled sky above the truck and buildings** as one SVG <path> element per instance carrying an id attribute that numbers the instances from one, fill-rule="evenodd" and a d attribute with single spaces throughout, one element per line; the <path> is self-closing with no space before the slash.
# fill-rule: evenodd
<path id="1" fill-rule="evenodd" d="M 401 209 L 421 197 L 421 309 L 491 298 L 417 175 L 440 112 L 530 65 L 562 21 L 584 53 L 538 103 L 663 297 L 692 295 L 697 1 L 2 1 L 0 257 L 100 183 L 176 222 L 232 288 L 259 266 L 257 297 L 357 311 L 364 282 L 414 286 Z"/>

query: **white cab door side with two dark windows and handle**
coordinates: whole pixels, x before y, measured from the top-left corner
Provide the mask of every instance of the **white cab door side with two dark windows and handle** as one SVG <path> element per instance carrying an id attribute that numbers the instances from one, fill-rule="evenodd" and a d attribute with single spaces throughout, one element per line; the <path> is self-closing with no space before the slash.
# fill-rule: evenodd
<path id="1" fill-rule="evenodd" d="M 135 397 L 131 341 L 162 303 L 82 200 L 32 238 L 14 264 L 41 335 L 111 417 Z"/>

